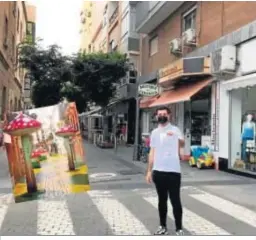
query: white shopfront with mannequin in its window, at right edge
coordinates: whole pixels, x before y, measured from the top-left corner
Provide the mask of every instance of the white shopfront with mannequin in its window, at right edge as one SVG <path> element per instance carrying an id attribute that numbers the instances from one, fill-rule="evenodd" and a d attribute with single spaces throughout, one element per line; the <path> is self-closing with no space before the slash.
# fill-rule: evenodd
<path id="1" fill-rule="evenodd" d="M 242 44 L 238 49 L 238 77 L 221 84 L 224 97 L 229 99 L 226 168 L 245 174 L 256 174 L 255 50 L 255 39 Z"/>

